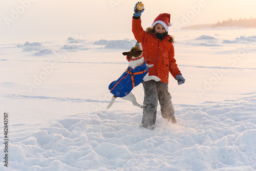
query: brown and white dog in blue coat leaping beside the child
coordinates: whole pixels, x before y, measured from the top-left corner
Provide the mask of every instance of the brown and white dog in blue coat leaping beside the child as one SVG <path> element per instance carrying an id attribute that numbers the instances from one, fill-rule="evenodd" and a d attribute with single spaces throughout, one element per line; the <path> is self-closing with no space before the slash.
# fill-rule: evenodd
<path id="1" fill-rule="evenodd" d="M 160 78 L 154 75 L 148 75 L 148 68 L 152 68 L 154 65 L 146 64 L 142 56 L 140 42 L 137 42 L 129 52 L 123 52 L 122 54 L 126 55 L 126 59 L 129 61 L 129 67 L 116 81 L 110 83 L 109 90 L 113 94 L 113 97 L 106 109 L 109 109 L 113 105 L 117 97 L 129 100 L 133 105 L 144 108 L 145 105 L 139 104 L 131 91 L 142 81 L 160 81 Z"/>

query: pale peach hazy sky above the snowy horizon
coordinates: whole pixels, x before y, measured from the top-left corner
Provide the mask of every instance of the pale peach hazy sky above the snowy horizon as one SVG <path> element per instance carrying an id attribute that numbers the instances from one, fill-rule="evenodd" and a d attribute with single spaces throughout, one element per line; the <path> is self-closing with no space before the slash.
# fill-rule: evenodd
<path id="1" fill-rule="evenodd" d="M 0 36 L 129 32 L 132 0 L 0 0 Z M 256 18 L 255 0 L 144 0 L 143 28 L 170 13 L 172 29 L 233 18 Z M 181 24 L 181 25 L 180 25 Z"/>

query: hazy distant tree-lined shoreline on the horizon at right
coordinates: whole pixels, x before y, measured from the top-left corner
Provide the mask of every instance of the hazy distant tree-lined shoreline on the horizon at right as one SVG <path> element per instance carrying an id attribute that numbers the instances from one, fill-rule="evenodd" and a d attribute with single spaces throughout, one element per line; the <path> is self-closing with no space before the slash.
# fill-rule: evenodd
<path id="1" fill-rule="evenodd" d="M 205 28 L 218 28 L 218 27 L 241 27 L 241 28 L 256 28 L 256 18 L 250 19 L 238 19 L 233 20 L 229 18 L 227 20 L 223 20 L 223 22 L 218 22 L 216 24 L 202 24 L 202 25 L 193 25 L 183 27 L 184 30 L 198 30 L 198 29 L 205 29 Z"/>

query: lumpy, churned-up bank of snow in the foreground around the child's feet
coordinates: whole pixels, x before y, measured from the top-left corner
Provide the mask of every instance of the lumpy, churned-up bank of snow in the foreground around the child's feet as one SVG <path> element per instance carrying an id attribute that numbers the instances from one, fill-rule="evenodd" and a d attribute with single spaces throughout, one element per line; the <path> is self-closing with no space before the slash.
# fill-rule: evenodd
<path id="1" fill-rule="evenodd" d="M 141 113 L 73 115 L 12 142 L 10 160 L 22 170 L 256 168 L 256 94 L 175 108 L 178 123 L 158 113 L 154 131 L 139 126 Z"/>

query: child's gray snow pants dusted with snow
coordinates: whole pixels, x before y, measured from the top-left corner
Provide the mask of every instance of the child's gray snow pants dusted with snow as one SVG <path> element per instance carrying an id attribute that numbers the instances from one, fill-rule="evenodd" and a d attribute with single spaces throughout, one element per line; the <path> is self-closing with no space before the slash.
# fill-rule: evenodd
<path id="1" fill-rule="evenodd" d="M 174 105 L 172 96 L 168 92 L 168 84 L 155 80 L 143 81 L 144 102 L 142 125 L 145 128 L 151 127 L 156 123 L 157 103 L 159 100 L 161 115 L 164 119 L 174 117 Z"/>

